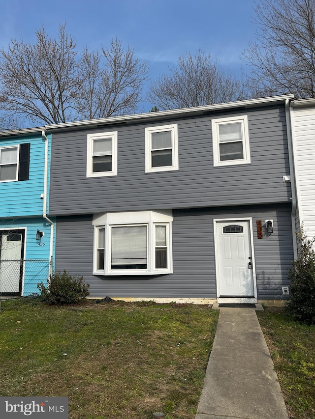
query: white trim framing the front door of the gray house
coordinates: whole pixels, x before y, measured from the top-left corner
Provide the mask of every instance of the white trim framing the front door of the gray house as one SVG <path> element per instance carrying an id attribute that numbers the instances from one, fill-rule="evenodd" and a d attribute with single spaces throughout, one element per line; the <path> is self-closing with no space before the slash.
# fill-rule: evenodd
<path id="1" fill-rule="evenodd" d="M 219 254 L 218 254 L 218 237 L 217 237 L 217 223 L 227 222 L 234 223 L 237 221 L 248 221 L 250 225 L 250 240 L 251 240 L 251 251 L 252 251 L 252 280 L 254 297 L 253 298 L 220 298 L 220 283 L 219 283 Z M 253 244 L 253 229 L 252 229 L 252 217 L 245 218 L 216 218 L 213 220 L 213 231 L 214 231 L 214 242 L 215 242 L 215 260 L 216 260 L 216 283 L 217 283 L 217 301 L 218 303 L 257 303 L 257 283 L 256 283 L 256 269 L 255 269 L 255 254 Z M 224 300 L 224 301 L 223 301 Z M 228 301 L 227 301 L 228 300 Z M 254 300 L 254 301 L 252 301 Z"/>

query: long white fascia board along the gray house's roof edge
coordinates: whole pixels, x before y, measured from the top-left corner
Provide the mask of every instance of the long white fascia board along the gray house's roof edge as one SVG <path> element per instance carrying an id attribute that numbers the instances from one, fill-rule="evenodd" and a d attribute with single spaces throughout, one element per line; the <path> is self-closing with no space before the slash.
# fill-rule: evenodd
<path id="1" fill-rule="evenodd" d="M 248 99 L 241 100 L 236 102 L 227 102 L 219 103 L 214 105 L 207 106 L 197 106 L 194 108 L 183 108 L 183 109 L 172 109 L 170 111 L 158 111 L 158 112 L 147 112 L 147 113 L 137 113 L 134 115 L 124 115 L 124 116 L 112 116 L 109 118 L 100 118 L 100 119 L 89 119 L 86 121 L 76 121 L 76 122 L 65 122 L 62 124 L 53 124 L 46 125 L 47 131 L 60 130 L 65 128 L 79 128 L 79 127 L 96 127 L 97 125 L 109 125 L 120 122 L 132 122 L 132 121 L 141 121 L 141 120 L 158 120 L 169 116 L 181 116 L 193 113 L 203 113 L 211 111 L 220 111 L 228 109 L 237 109 L 237 108 L 251 108 L 257 106 L 263 106 L 268 104 L 277 104 L 284 103 L 285 100 L 293 100 L 294 94 L 287 94 L 281 96 L 271 96 L 259 99 Z"/>

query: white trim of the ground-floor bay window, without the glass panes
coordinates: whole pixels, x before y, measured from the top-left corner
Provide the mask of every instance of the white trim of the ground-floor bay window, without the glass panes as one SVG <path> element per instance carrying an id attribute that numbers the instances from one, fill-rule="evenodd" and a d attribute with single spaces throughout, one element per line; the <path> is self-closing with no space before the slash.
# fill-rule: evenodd
<path id="1" fill-rule="evenodd" d="M 144 276 L 165 275 L 173 273 L 172 255 L 172 221 L 171 211 L 138 211 L 126 213 L 96 214 L 94 225 L 94 256 L 93 275 L 102 276 Z M 111 269 L 111 229 L 116 226 L 147 225 L 147 269 Z M 156 264 L 156 237 L 155 226 L 166 225 L 167 268 L 155 268 Z M 97 269 L 98 229 L 105 228 L 105 263 L 104 270 Z"/>

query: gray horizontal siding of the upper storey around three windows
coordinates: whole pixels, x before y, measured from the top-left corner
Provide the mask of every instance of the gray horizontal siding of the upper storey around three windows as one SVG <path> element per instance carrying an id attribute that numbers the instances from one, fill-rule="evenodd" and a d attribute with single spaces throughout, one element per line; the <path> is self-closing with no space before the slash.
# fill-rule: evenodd
<path id="1" fill-rule="evenodd" d="M 251 164 L 213 167 L 211 119 L 248 114 Z M 145 127 L 177 123 L 179 170 L 145 173 Z M 87 178 L 87 134 L 118 131 L 118 175 Z M 288 202 L 283 108 L 53 133 L 51 215 Z"/>

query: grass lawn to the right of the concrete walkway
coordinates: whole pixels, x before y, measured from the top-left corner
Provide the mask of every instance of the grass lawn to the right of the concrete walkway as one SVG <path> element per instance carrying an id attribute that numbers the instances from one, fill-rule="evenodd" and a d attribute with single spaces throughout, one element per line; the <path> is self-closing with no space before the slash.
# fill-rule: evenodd
<path id="1" fill-rule="evenodd" d="M 315 326 L 284 309 L 257 311 L 290 418 L 315 418 Z"/>

